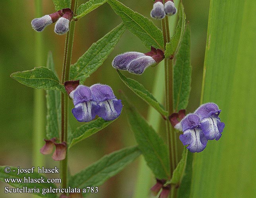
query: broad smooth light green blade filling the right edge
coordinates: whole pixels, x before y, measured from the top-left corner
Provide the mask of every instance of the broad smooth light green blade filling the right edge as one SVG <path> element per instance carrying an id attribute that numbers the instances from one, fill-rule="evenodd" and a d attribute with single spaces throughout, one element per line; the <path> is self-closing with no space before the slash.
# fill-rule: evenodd
<path id="1" fill-rule="evenodd" d="M 194 154 L 191 197 L 256 197 L 255 10 L 255 0 L 210 2 L 201 102 L 219 106 L 225 128 Z"/>

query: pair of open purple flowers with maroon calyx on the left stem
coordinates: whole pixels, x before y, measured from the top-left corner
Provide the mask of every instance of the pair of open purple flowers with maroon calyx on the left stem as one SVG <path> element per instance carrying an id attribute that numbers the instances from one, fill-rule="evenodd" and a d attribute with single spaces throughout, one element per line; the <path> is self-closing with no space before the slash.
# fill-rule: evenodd
<path id="1" fill-rule="evenodd" d="M 115 97 L 110 86 L 94 84 L 89 88 L 79 85 L 79 81 L 67 81 L 64 85 L 75 105 L 72 113 L 79 122 L 89 122 L 96 115 L 114 120 L 121 114 L 121 100 Z"/>

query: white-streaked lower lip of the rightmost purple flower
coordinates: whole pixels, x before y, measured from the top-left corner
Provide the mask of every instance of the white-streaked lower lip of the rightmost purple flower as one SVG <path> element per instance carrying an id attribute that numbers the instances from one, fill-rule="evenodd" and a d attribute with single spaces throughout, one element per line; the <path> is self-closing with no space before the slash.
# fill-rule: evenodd
<path id="1" fill-rule="evenodd" d="M 223 125 L 225 126 L 225 124 L 215 116 L 211 116 L 209 118 L 203 118 L 201 120 L 202 131 L 208 140 L 213 140 L 213 139 L 219 140 L 221 138 L 221 132 L 223 131 L 223 128 L 224 128 Z"/>

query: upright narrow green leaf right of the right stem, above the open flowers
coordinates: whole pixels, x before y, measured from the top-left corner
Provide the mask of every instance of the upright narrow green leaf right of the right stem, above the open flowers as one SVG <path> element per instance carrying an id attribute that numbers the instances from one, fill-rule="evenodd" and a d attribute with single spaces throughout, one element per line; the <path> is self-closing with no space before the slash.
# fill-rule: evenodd
<path id="1" fill-rule="evenodd" d="M 190 94 L 191 70 L 190 65 L 190 27 L 186 27 L 184 36 L 180 43 L 180 48 L 176 55 L 173 79 L 173 99 L 174 109 L 186 109 Z"/>

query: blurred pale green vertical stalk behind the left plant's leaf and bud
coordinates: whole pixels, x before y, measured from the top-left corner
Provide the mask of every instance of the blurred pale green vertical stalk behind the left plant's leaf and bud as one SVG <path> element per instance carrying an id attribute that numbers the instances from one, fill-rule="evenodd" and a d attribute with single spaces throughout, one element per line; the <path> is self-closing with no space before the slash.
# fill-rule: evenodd
<path id="1" fill-rule="evenodd" d="M 42 0 L 35 0 L 35 17 L 42 16 Z M 43 65 L 43 35 L 35 34 L 35 66 Z M 34 89 L 33 107 L 33 166 L 43 166 L 44 158 L 39 150 L 43 147 L 45 137 L 45 91 Z M 33 195 L 34 198 L 39 197 Z"/>

